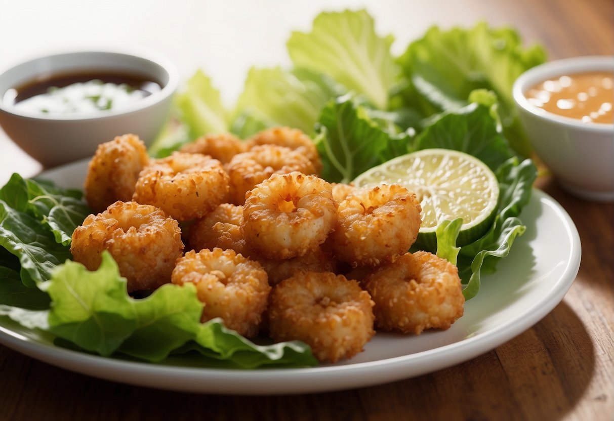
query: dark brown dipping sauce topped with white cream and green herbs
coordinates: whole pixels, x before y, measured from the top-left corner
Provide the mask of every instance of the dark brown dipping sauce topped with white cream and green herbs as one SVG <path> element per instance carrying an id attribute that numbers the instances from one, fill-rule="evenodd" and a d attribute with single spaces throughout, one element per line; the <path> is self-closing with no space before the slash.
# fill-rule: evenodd
<path id="1" fill-rule="evenodd" d="M 9 89 L 2 102 L 44 114 L 80 114 L 117 109 L 160 90 L 161 83 L 149 76 L 84 71 L 40 77 Z"/>

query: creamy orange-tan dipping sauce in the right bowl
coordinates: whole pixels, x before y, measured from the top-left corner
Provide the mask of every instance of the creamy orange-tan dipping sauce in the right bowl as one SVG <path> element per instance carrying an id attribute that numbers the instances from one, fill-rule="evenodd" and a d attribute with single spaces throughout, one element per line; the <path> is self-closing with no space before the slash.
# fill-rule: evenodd
<path id="1" fill-rule="evenodd" d="M 614 74 L 584 72 L 545 80 L 525 94 L 534 106 L 585 123 L 614 123 Z"/>

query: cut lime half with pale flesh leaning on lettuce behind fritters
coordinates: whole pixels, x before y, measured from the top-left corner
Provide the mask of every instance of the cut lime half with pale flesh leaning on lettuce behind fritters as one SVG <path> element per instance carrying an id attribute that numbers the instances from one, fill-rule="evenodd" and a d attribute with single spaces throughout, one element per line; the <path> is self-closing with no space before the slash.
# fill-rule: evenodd
<path id="1" fill-rule="evenodd" d="M 398 156 L 356 177 L 357 186 L 397 183 L 416 192 L 422 225 L 416 245 L 437 250 L 437 225 L 462 218 L 456 245 L 475 241 L 492 225 L 499 199 L 499 182 L 486 164 L 464 152 L 424 149 Z"/>

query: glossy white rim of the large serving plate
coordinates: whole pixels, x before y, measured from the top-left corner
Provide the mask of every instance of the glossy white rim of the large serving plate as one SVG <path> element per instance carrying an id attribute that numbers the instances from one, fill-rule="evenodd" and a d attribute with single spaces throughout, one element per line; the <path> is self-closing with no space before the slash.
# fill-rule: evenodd
<path id="1" fill-rule="evenodd" d="M 61 172 L 79 168 L 85 162 L 85 160 L 77 161 L 60 168 L 44 171 L 37 177 L 44 178 L 45 176 L 61 174 Z M 2 325 L 0 325 L 0 343 L 29 357 L 64 369 L 76 371 L 77 373 L 115 382 L 185 392 L 235 395 L 287 395 L 292 393 L 328 392 L 376 385 L 431 373 L 438 369 L 478 357 L 515 338 L 518 334 L 535 325 L 535 323 L 539 322 L 554 309 L 572 286 L 580 268 L 581 260 L 581 242 L 577 228 L 561 204 L 547 193 L 533 188 L 530 200 L 536 200 L 542 206 L 549 205 L 558 215 L 559 222 L 564 225 L 566 236 L 570 238 L 569 259 L 565 260 L 566 265 L 561 276 L 552 283 L 548 293 L 543 298 L 524 309 L 523 312 L 515 317 L 506 320 L 505 323 L 497 326 L 497 328 L 490 328 L 469 338 L 433 349 L 346 365 L 325 365 L 309 368 L 265 367 L 257 370 L 242 370 L 158 365 L 144 361 L 126 361 L 101 357 L 36 341 L 36 339 L 23 336 Z M 451 349 L 455 350 L 453 355 L 446 355 L 449 354 Z M 446 355 L 445 361 L 441 361 L 442 355 Z M 408 364 L 416 359 L 424 361 L 418 369 Z M 134 376 L 126 378 L 125 374 L 134 374 Z M 336 374 L 352 377 L 351 384 L 343 384 L 344 382 L 322 382 L 322 384 L 318 384 L 317 381 L 313 381 L 314 376 L 317 380 L 317 377 L 335 376 Z M 368 376 L 365 374 L 368 374 Z M 311 378 L 311 381 L 303 384 L 298 376 Z M 190 381 L 185 382 L 185 379 Z M 203 379 L 205 380 L 204 382 L 202 381 Z M 184 380 L 184 382 L 182 383 L 179 380 Z M 211 385 L 220 380 L 225 380 L 227 384 Z M 239 388 L 240 390 L 235 390 L 235 387 L 231 384 L 239 380 L 243 382 L 243 387 Z M 293 387 L 287 385 L 288 380 L 296 380 Z M 282 384 L 278 384 L 279 382 Z"/>

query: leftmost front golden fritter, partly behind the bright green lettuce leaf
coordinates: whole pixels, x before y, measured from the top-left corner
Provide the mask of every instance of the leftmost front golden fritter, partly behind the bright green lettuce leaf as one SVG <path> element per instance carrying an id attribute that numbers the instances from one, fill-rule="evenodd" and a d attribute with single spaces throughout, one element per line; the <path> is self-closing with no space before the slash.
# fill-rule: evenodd
<path id="1" fill-rule="evenodd" d="M 171 280 L 184 244 L 177 221 L 155 206 L 117 201 L 98 215 L 89 215 L 72 233 L 71 253 L 90 271 L 98 269 L 109 250 L 128 292 L 153 290 Z"/>

